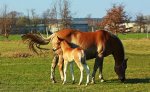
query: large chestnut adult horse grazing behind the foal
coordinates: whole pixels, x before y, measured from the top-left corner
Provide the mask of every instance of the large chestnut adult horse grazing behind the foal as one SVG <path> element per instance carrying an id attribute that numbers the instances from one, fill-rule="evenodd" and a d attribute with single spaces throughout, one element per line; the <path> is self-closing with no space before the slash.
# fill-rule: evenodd
<path id="1" fill-rule="evenodd" d="M 92 83 L 95 83 L 95 74 L 99 68 L 99 78 L 101 82 L 104 81 L 102 69 L 104 57 L 112 54 L 115 60 L 114 70 L 118 75 L 118 78 L 123 82 L 125 80 L 125 71 L 127 68 L 127 59 L 125 59 L 124 47 L 121 40 L 113 35 L 112 33 L 105 30 L 97 30 L 95 32 L 81 32 L 74 29 L 62 29 L 58 32 L 53 33 L 47 38 L 42 36 L 35 37 L 28 34 L 24 35 L 23 38 L 30 39 L 32 43 L 44 44 L 48 41 L 52 43 L 52 46 L 59 45 L 59 38 L 66 40 L 71 44 L 72 47 L 80 47 L 84 49 L 86 59 L 95 58 L 95 63 L 92 73 Z M 34 45 L 34 44 L 32 44 Z M 33 47 L 33 46 L 31 46 Z M 63 56 L 61 49 L 53 49 L 56 55 L 52 61 L 51 66 L 51 79 L 55 82 L 55 67 L 58 64 L 61 79 L 63 76 Z"/>

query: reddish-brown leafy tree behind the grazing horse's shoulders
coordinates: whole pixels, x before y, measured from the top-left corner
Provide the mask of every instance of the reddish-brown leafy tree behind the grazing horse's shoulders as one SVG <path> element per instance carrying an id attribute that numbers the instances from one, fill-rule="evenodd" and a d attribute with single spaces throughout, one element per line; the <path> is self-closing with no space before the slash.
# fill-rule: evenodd
<path id="1" fill-rule="evenodd" d="M 109 31 L 117 34 L 119 32 L 123 33 L 125 31 L 125 26 L 122 25 L 125 22 L 129 21 L 129 17 L 124 11 L 123 5 L 113 5 L 113 7 L 107 10 L 106 16 L 104 16 L 103 21 L 100 23 L 102 28 L 107 26 Z"/>

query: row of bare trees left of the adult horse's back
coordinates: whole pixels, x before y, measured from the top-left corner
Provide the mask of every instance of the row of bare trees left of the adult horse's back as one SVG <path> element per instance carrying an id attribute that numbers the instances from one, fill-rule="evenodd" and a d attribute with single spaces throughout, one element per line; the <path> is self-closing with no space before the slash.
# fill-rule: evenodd
<path id="1" fill-rule="evenodd" d="M 9 12 L 8 6 L 4 5 L 0 9 L 0 34 L 8 38 L 9 33 L 14 28 L 25 26 L 33 26 L 36 28 L 38 24 L 44 24 L 45 30 L 49 23 L 58 24 L 58 22 L 61 22 L 61 28 L 70 27 L 72 18 L 70 2 L 68 0 L 57 1 L 51 8 L 44 11 L 42 16 L 39 16 L 35 9 L 27 10 L 27 15 L 17 11 Z"/>

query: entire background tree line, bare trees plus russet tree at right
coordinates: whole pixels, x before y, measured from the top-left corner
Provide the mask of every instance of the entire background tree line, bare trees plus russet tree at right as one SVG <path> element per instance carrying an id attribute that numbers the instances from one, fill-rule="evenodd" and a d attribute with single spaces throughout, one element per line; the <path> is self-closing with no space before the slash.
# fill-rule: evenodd
<path id="1" fill-rule="evenodd" d="M 53 4 L 51 8 L 47 9 L 39 16 L 35 9 L 27 10 L 27 15 L 21 12 L 10 11 L 8 6 L 4 5 L 0 12 L 0 34 L 6 38 L 9 37 L 9 33 L 15 28 L 33 26 L 37 27 L 38 24 L 43 24 L 46 27 L 49 23 L 59 24 L 61 22 L 61 28 L 70 28 L 72 23 L 72 13 L 70 10 L 69 0 L 57 0 L 58 2 Z M 102 18 L 102 21 L 94 23 L 91 18 L 91 14 L 87 16 L 88 25 L 94 30 L 106 29 L 114 34 L 124 33 L 126 28 L 123 23 L 129 23 L 131 16 L 125 11 L 125 6 L 122 4 L 113 4 L 110 9 L 107 10 L 106 15 Z M 145 28 L 145 24 L 148 20 L 145 20 L 142 14 L 136 16 L 135 22 L 140 26 L 140 30 Z M 29 29 L 31 30 L 31 29 Z M 36 31 L 36 29 L 34 30 Z M 48 32 L 47 32 L 48 33 Z"/>

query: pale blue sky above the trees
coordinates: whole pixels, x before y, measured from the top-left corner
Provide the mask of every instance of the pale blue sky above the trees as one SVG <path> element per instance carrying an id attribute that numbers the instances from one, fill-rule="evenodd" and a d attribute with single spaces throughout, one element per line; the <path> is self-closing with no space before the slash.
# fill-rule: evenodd
<path id="1" fill-rule="evenodd" d="M 15 10 L 27 14 L 27 10 L 35 9 L 37 14 L 41 15 L 43 11 L 57 0 L 0 0 L 0 9 L 7 5 L 9 11 Z M 106 15 L 106 10 L 111 8 L 112 4 L 125 5 L 126 12 L 134 17 L 138 13 L 150 15 L 150 0 L 69 0 L 73 17 L 86 17 L 91 14 L 92 17 L 101 18 Z"/>

